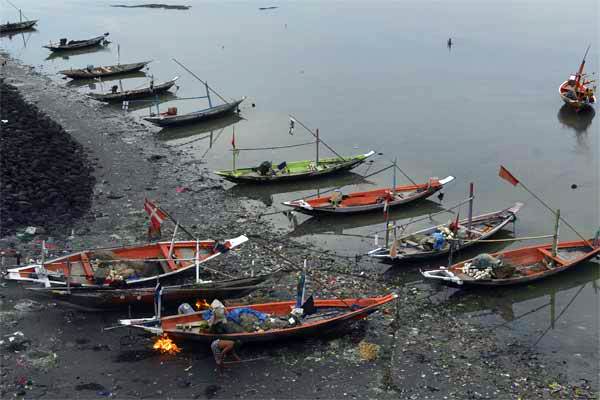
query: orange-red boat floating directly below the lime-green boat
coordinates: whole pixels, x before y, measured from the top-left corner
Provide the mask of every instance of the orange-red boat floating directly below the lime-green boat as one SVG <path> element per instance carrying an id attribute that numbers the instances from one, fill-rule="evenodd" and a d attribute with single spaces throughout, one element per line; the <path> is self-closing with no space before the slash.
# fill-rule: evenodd
<path id="1" fill-rule="evenodd" d="M 357 214 L 382 210 L 386 207 L 386 203 L 389 208 L 426 199 L 442 190 L 444 185 L 453 180 L 453 176 L 448 176 L 441 180 L 430 178 L 427 183 L 397 186 L 395 189 L 384 188 L 348 194 L 334 192 L 334 194 L 330 196 L 285 201 L 283 204 L 302 213 L 311 215 Z"/>

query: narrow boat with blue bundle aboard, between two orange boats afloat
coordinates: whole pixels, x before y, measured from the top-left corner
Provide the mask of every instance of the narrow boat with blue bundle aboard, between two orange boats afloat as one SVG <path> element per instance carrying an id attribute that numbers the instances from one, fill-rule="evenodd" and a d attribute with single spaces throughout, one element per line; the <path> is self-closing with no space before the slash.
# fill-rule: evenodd
<path id="1" fill-rule="evenodd" d="M 456 233 L 452 232 L 447 225 L 432 226 L 393 240 L 390 248 L 380 247 L 371 250 L 368 254 L 388 261 L 422 260 L 448 254 L 452 243 L 454 243 L 452 251 L 457 252 L 489 238 L 515 221 L 521 207 L 523 203 L 515 203 L 505 210 L 473 217 L 470 223 L 468 218 L 463 219 L 459 221 Z M 440 233 L 444 240 L 436 248 L 434 235 L 438 234 L 439 237 Z"/>

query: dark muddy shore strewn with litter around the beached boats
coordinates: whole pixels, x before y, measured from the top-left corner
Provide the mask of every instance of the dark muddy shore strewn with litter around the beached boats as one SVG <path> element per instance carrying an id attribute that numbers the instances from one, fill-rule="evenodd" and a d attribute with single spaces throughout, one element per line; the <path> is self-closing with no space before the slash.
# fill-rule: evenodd
<path id="1" fill-rule="evenodd" d="M 83 313 L 3 282 L 2 397 L 516 399 L 592 398 L 597 390 L 597 382 L 568 381 L 560 363 L 517 341 L 498 341 L 495 332 L 458 317 L 456 306 L 427 285 L 392 284 L 380 264 L 281 241 L 278 230 L 258 218 L 264 209 L 228 194 L 211 177 L 210 165 L 185 162 L 183 153 L 156 139 L 155 128 L 121 110 L 12 59 L 2 77 L 88 149 L 94 165 L 91 207 L 72 227 L 52 232 L 58 251 L 145 241 L 142 205 L 148 197 L 200 238 L 250 237 L 211 268 L 243 275 L 253 261 L 258 272 L 284 266 L 284 258 L 296 265 L 307 258 L 316 296 L 400 295 L 348 335 L 245 348 L 242 357 L 266 358 L 218 377 L 207 349 L 198 345 L 181 343 L 182 353 L 165 356 L 151 350 L 151 338 L 119 329 L 101 332 L 127 311 Z M 163 230 L 165 238 L 169 232 Z M 0 247 L 14 244 L 26 258 L 38 257 L 40 238 L 4 237 Z M 286 298 L 294 280 L 289 274 L 246 301 Z M 375 360 L 361 358 L 361 341 L 379 346 Z"/>

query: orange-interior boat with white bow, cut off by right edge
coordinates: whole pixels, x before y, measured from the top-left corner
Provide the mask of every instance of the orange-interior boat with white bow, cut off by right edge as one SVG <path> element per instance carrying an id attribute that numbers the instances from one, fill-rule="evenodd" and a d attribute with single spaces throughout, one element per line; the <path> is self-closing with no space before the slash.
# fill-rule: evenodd
<path id="1" fill-rule="evenodd" d="M 600 255 L 600 241 L 597 238 L 559 243 L 555 255 L 552 247 L 553 244 L 549 243 L 491 254 L 501 260 L 503 266 L 511 270 L 514 268 L 510 275 L 502 278 L 497 278 L 492 269 L 492 272 L 476 279 L 469 273 L 474 258 L 449 268 L 422 271 L 421 274 L 427 280 L 458 287 L 508 286 L 546 278 Z"/>

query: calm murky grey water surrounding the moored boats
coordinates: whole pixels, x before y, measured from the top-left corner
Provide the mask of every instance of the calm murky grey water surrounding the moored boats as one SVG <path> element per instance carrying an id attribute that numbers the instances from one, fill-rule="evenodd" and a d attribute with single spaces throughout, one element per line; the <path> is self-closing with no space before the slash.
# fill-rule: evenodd
<path id="1" fill-rule="evenodd" d="M 356 175 L 230 189 L 232 195 L 268 206 L 266 212 L 283 209 L 281 201 L 340 184 L 348 185 L 346 191 L 389 185 L 390 171 L 366 180 L 360 175 L 397 157 L 399 166 L 417 181 L 457 177 L 445 190 L 443 204 L 432 198 L 395 211 L 393 218 L 400 223 L 461 201 L 473 181 L 476 213 L 525 201 L 515 233 L 550 233 L 551 214 L 521 188 L 497 177 L 502 163 L 586 236 L 599 225 L 598 123 L 593 114 L 574 115 L 562 108 L 557 93 L 558 85 L 577 69 L 589 42 L 587 71 L 598 70 L 600 44 L 593 42 L 597 2 L 570 3 L 568 13 L 557 0 L 485 5 L 284 2 L 268 11 L 258 10 L 268 5 L 260 2 L 188 1 L 184 3 L 193 6 L 188 11 L 111 8 L 110 3 L 20 1 L 27 16 L 40 19 L 38 30 L 2 37 L 0 43 L 51 74 L 114 64 L 119 45 L 123 63 L 154 60 L 147 73 L 157 82 L 180 76 L 178 97 L 202 96 L 204 88 L 172 57 L 226 97 L 248 96 L 242 120 L 161 132 L 161 140 L 178 146 L 186 160 L 204 158 L 210 169 L 230 167 L 234 124 L 241 148 L 310 141 L 300 127 L 294 136 L 288 134 L 288 114 L 320 128 L 322 138 L 341 154 L 371 149 L 383 153 L 373 164 L 355 170 Z M 13 19 L 18 14 L 2 4 L 2 16 Z M 49 40 L 104 32 L 110 32 L 113 43 L 102 51 L 47 59 L 49 52 L 41 48 Z M 446 47 L 449 36 L 454 41 L 451 49 Z M 146 82 L 138 76 L 122 80 L 122 85 L 134 88 Z M 108 91 L 112 84 L 96 84 L 96 90 Z M 204 100 L 165 100 L 169 99 L 161 108 L 176 106 L 186 112 L 206 106 Z M 143 104 L 139 108 L 136 114 L 147 113 Z M 240 154 L 238 165 L 313 156 L 313 146 L 247 151 Z M 571 189 L 572 184 L 577 189 Z M 466 215 L 465 208 L 461 215 Z M 300 216 L 295 228 L 282 215 L 272 218 L 294 240 L 350 256 L 371 249 L 373 232 L 383 227 L 378 214 L 343 220 Z M 448 218 L 440 215 L 436 220 Z M 576 239 L 566 227 L 561 237 Z M 464 256 L 468 255 L 473 252 Z M 418 279 L 414 270 L 389 274 L 390 279 L 398 274 Z M 498 328 L 501 335 L 504 330 L 567 360 L 571 376 L 595 377 L 597 284 L 598 264 L 587 263 L 527 287 L 467 296 L 448 290 L 447 295 L 458 297 L 467 313 L 481 315 L 490 324 L 505 323 Z"/>

